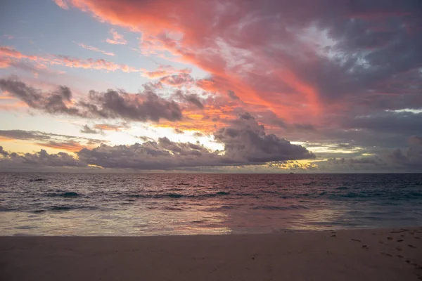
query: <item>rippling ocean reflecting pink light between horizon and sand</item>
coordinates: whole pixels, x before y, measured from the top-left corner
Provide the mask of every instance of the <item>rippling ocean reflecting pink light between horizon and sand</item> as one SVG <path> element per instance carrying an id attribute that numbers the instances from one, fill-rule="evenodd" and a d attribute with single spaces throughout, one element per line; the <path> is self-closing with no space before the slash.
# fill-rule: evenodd
<path id="1" fill-rule="evenodd" d="M 0 173 L 0 235 L 422 226 L 422 174 Z"/>

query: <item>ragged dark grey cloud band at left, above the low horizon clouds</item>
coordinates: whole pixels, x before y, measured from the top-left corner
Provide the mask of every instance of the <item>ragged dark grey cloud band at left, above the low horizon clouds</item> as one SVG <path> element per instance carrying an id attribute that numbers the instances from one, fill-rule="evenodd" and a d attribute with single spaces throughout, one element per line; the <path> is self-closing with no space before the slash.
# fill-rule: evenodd
<path id="1" fill-rule="evenodd" d="M 57 91 L 42 93 L 17 79 L 0 79 L 0 89 L 23 100 L 29 107 L 49 114 L 66 114 L 77 117 L 127 119 L 132 121 L 153 121 L 160 119 L 177 121 L 182 112 L 177 103 L 157 96 L 153 91 L 133 95 L 123 91 L 89 91 L 86 99 L 71 105 L 72 93 L 67 87 L 60 86 Z M 195 96 L 188 101 L 200 106 Z"/>

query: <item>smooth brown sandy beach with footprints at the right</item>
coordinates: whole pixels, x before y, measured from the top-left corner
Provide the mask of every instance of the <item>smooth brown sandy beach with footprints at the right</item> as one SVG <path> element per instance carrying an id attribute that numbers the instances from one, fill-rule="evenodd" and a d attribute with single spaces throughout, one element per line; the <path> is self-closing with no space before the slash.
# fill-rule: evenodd
<path id="1" fill-rule="evenodd" d="M 422 227 L 0 237 L 1 280 L 422 280 Z"/>

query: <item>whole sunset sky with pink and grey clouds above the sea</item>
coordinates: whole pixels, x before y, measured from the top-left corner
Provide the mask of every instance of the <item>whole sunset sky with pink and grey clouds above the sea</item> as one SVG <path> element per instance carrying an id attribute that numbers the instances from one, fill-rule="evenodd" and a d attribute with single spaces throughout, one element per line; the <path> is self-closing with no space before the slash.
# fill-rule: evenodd
<path id="1" fill-rule="evenodd" d="M 6 0 L 0 171 L 422 172 L 420 0 Z"/>

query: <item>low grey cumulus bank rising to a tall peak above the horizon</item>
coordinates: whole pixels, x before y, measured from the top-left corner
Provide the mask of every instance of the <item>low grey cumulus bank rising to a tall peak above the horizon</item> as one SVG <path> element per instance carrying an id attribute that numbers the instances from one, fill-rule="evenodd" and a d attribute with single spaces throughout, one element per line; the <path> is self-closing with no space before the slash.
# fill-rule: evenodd
<path id="1" fill-rule="evenodd" d="M 108 168 L 174 169 L 193 166 L 232 166 L 314 158 L 312 152 L 283 138 L 267 135 L 254 117 L 245 113 L 231 126 L 215 133 L 224 151 L 210 151 L 195 143 L 175 143 L 168 138 L 145 139 L 134 145 L 101 145 L 77 152 L 79 159 Z"/>

